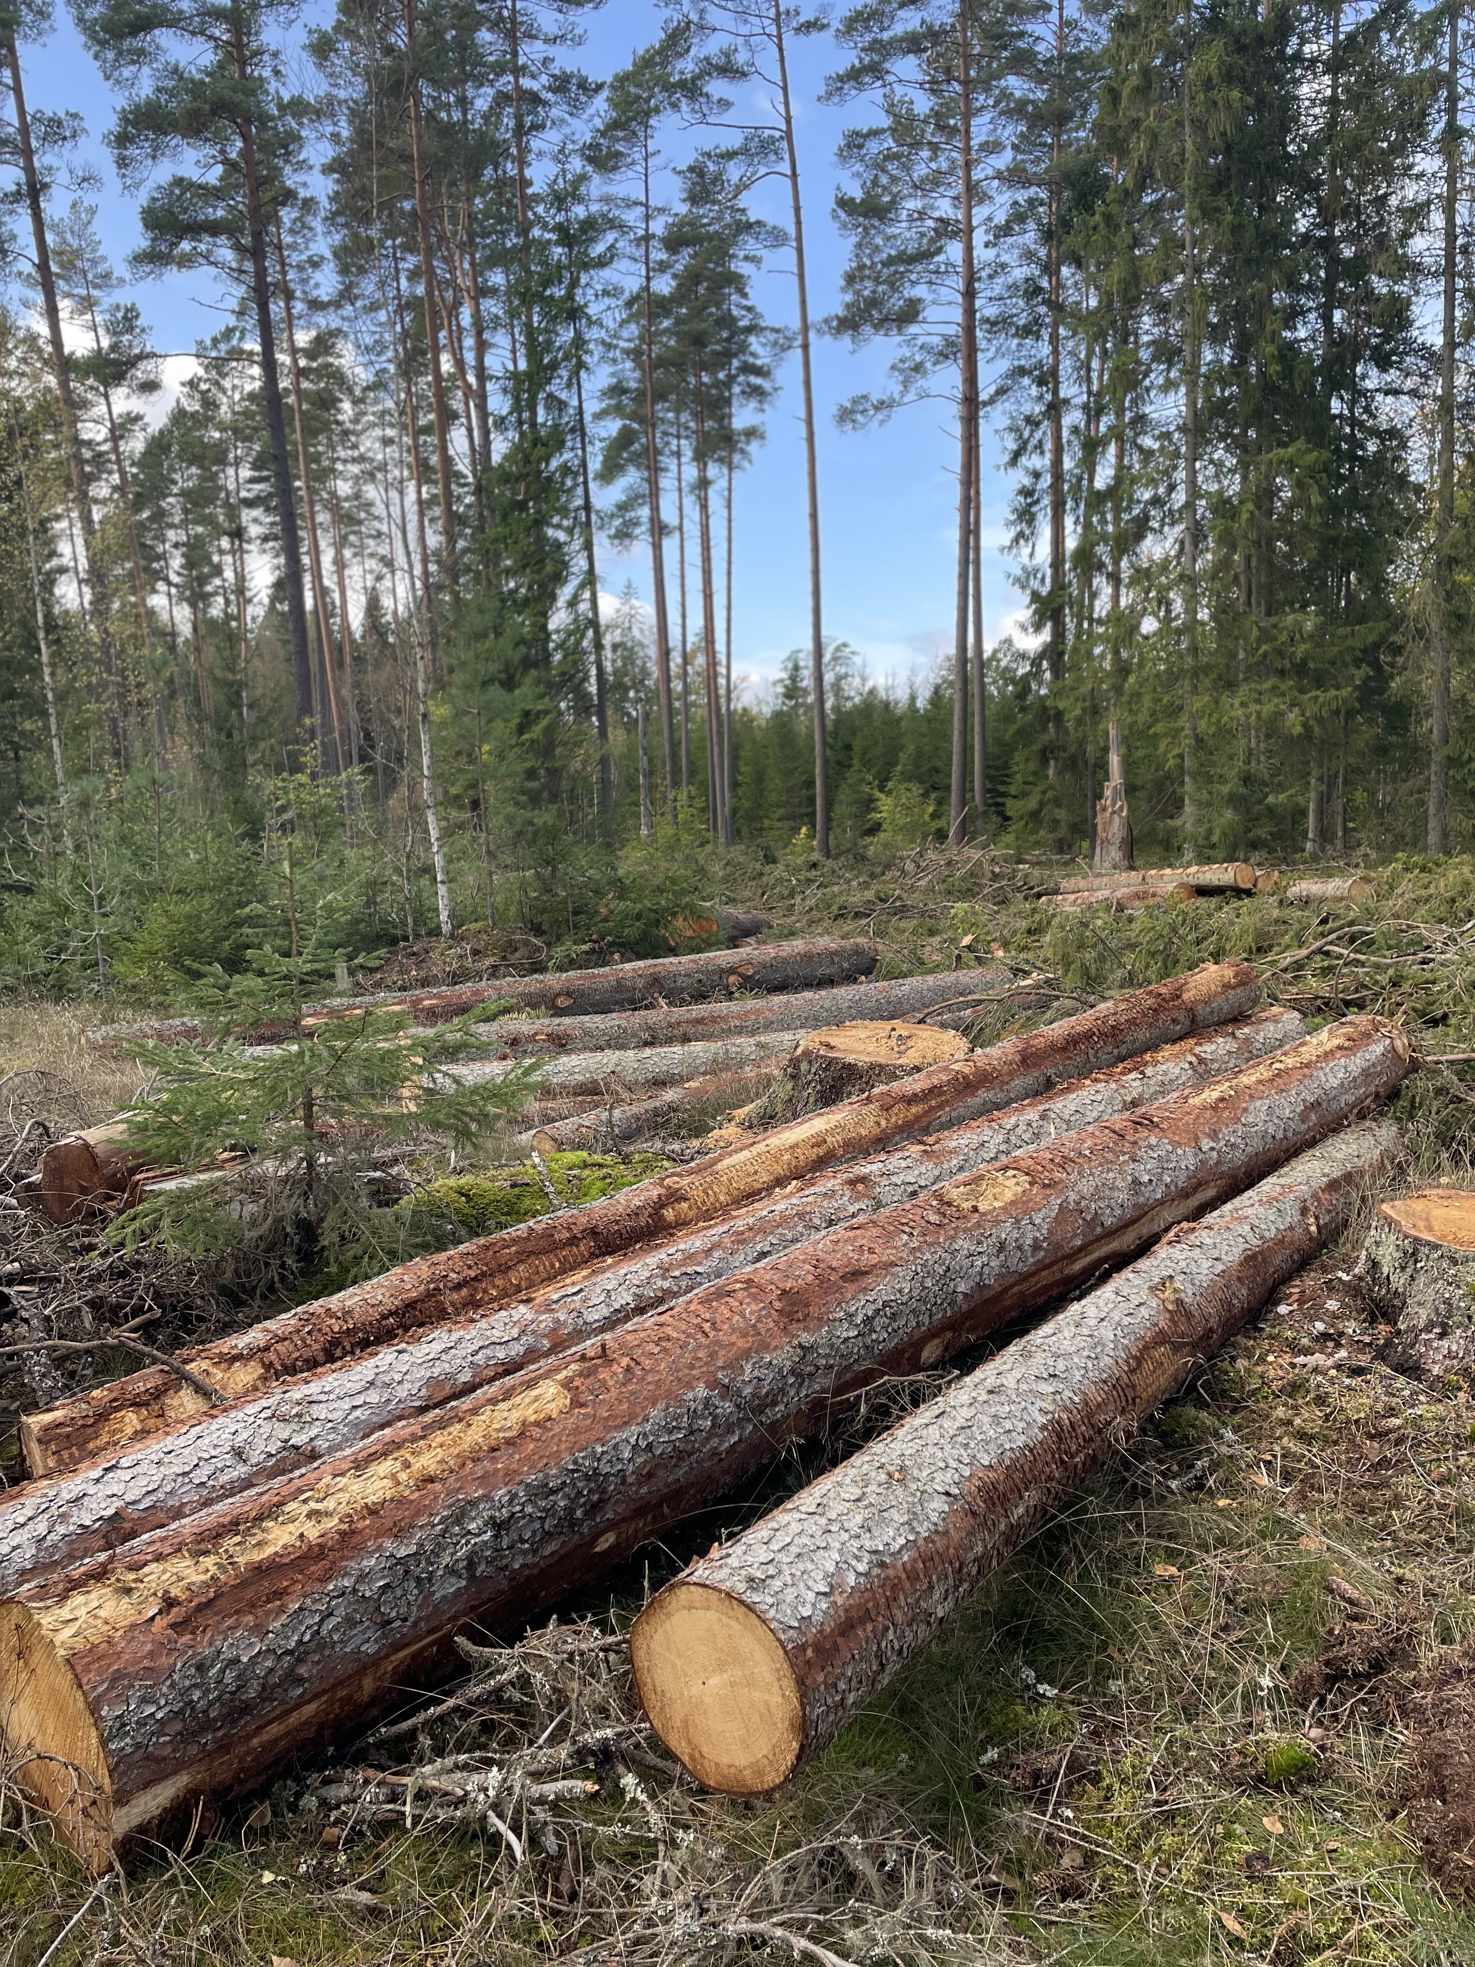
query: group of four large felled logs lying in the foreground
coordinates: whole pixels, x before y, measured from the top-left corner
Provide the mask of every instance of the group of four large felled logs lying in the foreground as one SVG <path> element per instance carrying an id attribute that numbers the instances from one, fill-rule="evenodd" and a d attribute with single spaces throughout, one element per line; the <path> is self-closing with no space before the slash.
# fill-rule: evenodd
<path id="1" fill-rule="evenodd" d="M 1404 1037 L 1355 1017 L 1308 1039 L 1257 999 L 1249 966 L 1217 964 L 979 1052 L 891 1021 L 865 1070 L 956 1056 L 201 1347 L 189 1381 L 149 1369 L 30 1416 L 37 1479 L 0 1501 L 6 1766 L 102 1871 L 132 1833 L 391 1703 L 464 1621 L 582 1587 L 877 1375 L 946 1361 L 1217 1210 L 1060 1314 L 1056 1353 L 1007 1347 L 997 1424 L 975 1381 L 926 1408 L 914 1481 L 895 1460 L 877 1477 L 869 1450 L 850 1463 L 856 1493 L 891 1481 L 922 1511 L 909 1530 L 879 1493 L 873 1562 L 846 1544 L 865 1522 L 806 1493 L 759 1566 L 767 1597 L 692 1574 L 651 1605 L 657 1727 L 704 1780 L 751 1782 L 745 1749 L 759 1786 L 781 1780 L 1381 1164 L 1386 1133 L 1345 1127 L 1408 1072 Z M 840 1056 L 804 1041 L 802 1070 Z M 800 1601 L 824 1576 L 810 1658 Z M 706 1662 L 730 1680 L 716 1749 L 690 1699 Z"/>

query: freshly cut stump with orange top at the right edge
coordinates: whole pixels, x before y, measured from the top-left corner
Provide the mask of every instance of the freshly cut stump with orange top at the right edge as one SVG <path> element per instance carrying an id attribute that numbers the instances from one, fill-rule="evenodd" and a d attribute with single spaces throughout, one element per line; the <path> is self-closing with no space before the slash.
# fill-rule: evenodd
<path id="1" fill-rule="evenodd" d="M 1398 1363 L 1432 1379 L 1475 1365 L 1475 1194 L 1424 1188 L 1385 1202 L 1365 1249 L 1398 1326 Z"/>

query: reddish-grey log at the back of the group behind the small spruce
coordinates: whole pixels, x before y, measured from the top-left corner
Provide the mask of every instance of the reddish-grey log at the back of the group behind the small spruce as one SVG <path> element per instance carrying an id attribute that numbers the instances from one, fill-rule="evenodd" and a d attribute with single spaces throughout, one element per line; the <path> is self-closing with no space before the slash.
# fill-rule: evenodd
<path id="1" fill-rule="evenodd" d="M 513 1011 L 555 1017 L 562 1011 L 639 1011 L 663 1003 L 702 1003 L 732 991 L 824 989 L 854 984 L 875 970 L 873 942 L 812 938 L 769 942 L 739 952 L 702 950 L 696 956 L 657 956 L 651 962 L 610 964 L 606 970 L 568 970 L 562 976 L 498 978 L 490 984 L 448 984 L 419 991 L 372 991 L 364 997 L 334 997 L 305 1007 L 307 1025 L 326 1025 L 362 1011 L 405 1011 L 417 1025 L 446 1025 L 474 1011 L 478 1003 L 507 1003 Z M 94 1043 L 199 1039 L 193 1017 L 171 1017 L 151 1025 L 112 1025 L 92 1033 Z M 260 1025 L 264 1044 L 289 1037 L 285 1025 Z"/>

